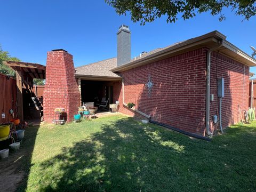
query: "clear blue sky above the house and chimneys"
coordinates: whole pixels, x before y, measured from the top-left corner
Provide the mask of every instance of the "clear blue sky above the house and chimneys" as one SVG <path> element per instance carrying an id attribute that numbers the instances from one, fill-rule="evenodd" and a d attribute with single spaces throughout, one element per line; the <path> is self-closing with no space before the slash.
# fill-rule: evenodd
<path id="1" fill-rule="evenodd" d="M 103 0 L 8 0 L 0 6 L 0 43 L 3 50 L 22 61 L 45 65 L 46 52 L 65 49 L 75 66 L 116 57 L 116 32 L 122 24 L 132 31 L 132 57 L 213 30 L 246 53 L 256 47 L 256 17 L 243 21 L 230 10 L 226 21 L 210 13 L 190 20 L 166 23 L 165 17 L 146 26 L 133 23 L 130 15 L 119 16 Z M 256 68 L 251 69 L 256 73 Z"/>

